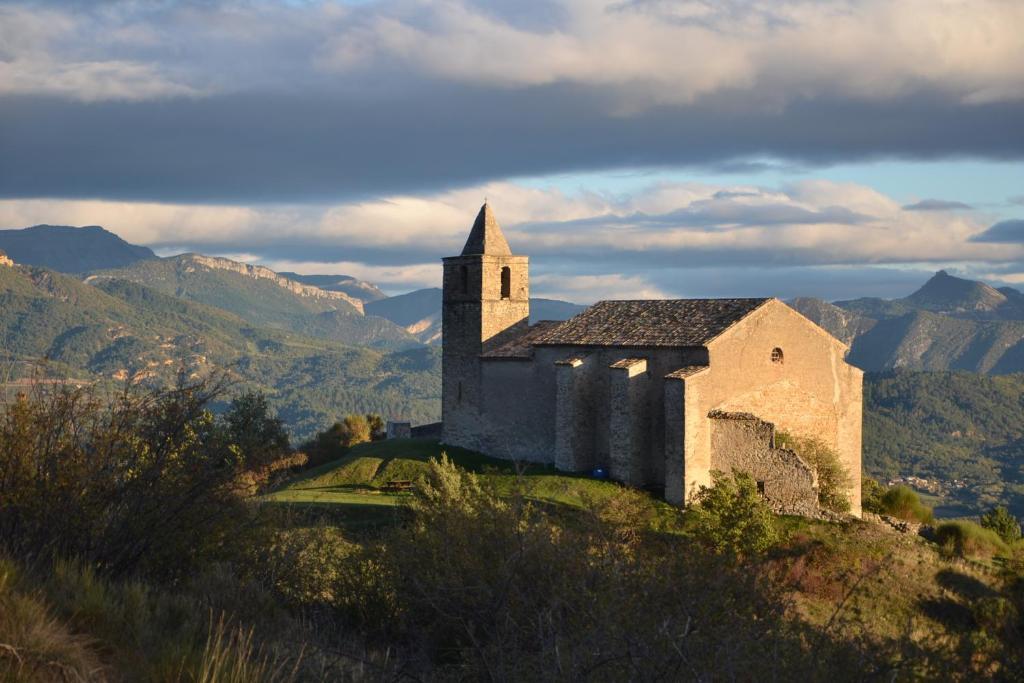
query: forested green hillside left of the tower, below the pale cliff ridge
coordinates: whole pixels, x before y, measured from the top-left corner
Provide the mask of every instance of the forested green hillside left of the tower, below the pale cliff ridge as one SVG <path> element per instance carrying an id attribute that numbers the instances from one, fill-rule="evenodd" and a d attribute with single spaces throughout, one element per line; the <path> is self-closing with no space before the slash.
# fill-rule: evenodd
<path id="1" fill-rule="evenodd" d="M 92 283 L 42 268 L 0 267 L 5 356 L 48 358 L 46 371 L 52 375 L 112 387 L 125 381 L 166 384 L 181 371 L 229 371 L 241 387 L 268 393 L 296 438 L 350 412 L 414 422 L 438 417 L 436 349 L 345 346 L 255 327 L 233 313 L 137 283 Z M 35 372 L 16 365 L 14 370 Z"/>

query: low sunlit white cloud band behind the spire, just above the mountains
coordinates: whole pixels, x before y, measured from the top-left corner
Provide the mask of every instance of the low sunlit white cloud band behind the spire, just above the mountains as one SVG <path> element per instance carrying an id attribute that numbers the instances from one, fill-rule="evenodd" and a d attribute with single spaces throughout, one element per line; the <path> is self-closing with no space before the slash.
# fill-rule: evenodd
<path id="1" fill-rule="evenodd" d="M 1024 246 L 972 242 L 993 217 L 978 210 L 922 212 L 855 183 L 781 187 L 659 183 L 633 196 L 513 182 L 333 206 L 215 206 L 104 201 L 0 201 L 0 225 L 101 224 L 129 242 L 176 251 L 242 253 L 271 267 L 334 272 L 392 289 L 438 282 L 441 256 L 459 253 L 482 199 L 513 249 L 532 257 L 538 281 L 569 293 L 647 292 L 647 267 L 741 263 L 863 266 L 1009 263 Z M 331 253 L 332 259 L 324 257 Z M 620 275 L 601 272 L 604 268 Z M 557 275 L 557 278 L 556 278 Z"/>

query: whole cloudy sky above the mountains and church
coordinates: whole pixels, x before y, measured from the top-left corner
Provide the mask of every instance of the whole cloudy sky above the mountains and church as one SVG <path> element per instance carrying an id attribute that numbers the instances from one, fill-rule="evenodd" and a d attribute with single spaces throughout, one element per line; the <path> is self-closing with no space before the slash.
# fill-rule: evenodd
<path id="1" fill-rule="evenodd" d="M 0 226 L 534 292 L 1024 285 L 1021 0 L 0 0 Z"/>

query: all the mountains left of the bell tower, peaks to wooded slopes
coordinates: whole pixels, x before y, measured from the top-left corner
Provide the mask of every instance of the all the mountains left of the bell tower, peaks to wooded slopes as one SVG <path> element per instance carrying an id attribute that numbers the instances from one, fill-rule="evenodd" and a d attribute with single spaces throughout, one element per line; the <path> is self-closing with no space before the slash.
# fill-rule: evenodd
<path id="1" fill-rule="evenodd" d="M 439 417 L 439 290 L 389 298 L 347 275 L 160 258 L 100 227 L 0 237 L 0 401 L 12 376 L 114 389 L 223 371 L 266 392 L 299 438 L 350 412 Z M 562 317 L 582 309 L 535 306 Z"/>

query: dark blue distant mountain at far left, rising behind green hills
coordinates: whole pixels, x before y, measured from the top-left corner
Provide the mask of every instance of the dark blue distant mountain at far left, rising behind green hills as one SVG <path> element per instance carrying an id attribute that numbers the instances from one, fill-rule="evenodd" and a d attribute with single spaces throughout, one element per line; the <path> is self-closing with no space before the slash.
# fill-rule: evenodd
<path id="1" fill-rule="evenodd" d="M 68 273 L 121 268 L 157 258 L 147 247 L 129 244 L 98 225 L 0 230 L 0 249 L 16 263 Z"/>

